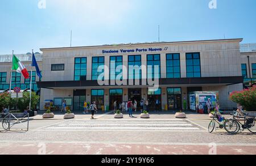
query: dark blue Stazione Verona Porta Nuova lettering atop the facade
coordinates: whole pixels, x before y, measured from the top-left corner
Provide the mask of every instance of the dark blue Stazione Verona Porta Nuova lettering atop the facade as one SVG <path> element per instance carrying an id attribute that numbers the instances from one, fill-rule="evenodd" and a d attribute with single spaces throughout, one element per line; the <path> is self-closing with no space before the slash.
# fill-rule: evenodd
<path id="1" fill-rule="evenodd" d="M 112 54 L 112 53 L 141 53 L 141 52 L 160 52 L 162 48 L 148 48 L 148 49 L 119 49 L 119 50 L 102 50 L 102 54 Z M 167 50 L 167 47 L 164 48 Z"/>

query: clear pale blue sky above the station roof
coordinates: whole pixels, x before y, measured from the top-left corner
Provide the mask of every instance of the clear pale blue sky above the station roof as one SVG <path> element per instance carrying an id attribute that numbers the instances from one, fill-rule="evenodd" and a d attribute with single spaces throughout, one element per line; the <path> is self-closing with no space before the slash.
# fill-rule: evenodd
<path id="1" fill-rule="evenodd" d="M 256 42 L 256 1 L 217 0 L 0 1 L 0 54 L 129 42 L 243 38 Z"/>

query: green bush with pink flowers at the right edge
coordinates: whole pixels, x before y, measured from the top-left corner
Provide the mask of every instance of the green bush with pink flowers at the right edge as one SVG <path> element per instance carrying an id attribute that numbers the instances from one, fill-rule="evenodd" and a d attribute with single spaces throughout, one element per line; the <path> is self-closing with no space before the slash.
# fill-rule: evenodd
<path id="1" fill-rule="evenodd" d="M 249 88 L 249 90 L 234 91 L 229 98 L 242 105 L 247 111 L 256 111 L 256 86 Z"/>

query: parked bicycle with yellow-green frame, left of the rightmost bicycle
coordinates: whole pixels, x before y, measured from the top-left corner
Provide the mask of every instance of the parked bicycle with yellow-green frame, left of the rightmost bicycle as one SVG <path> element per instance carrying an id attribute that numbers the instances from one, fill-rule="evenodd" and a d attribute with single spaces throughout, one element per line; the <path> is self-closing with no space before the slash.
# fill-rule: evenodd
<path id="1" fill-rule="evenodd" d="M 218 127 L 216 126 L 216 124 L 218 124 Z M 226 130 L 228 127 L 229 131 Z M 226 131 L 233 134 L 237 131 L 237 129 L 239 129 L 239 124 L 237 122 L 234 122 L 231 118 L 227 119 L 225 117 L 222 117 L 221 114 L 215 112 L 208 126 L 208 131 L 209 133 L 212 133 L 213 130 L 217 128 L 225 129 Z"/>

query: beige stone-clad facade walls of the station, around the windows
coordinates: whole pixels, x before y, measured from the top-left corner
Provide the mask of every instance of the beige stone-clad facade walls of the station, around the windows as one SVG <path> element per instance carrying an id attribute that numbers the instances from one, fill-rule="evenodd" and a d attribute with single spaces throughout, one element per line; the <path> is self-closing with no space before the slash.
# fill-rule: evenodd
<path id="1" fill-rule="evenodd" d="M 236 104 L 229 100 L 229 93 L 240 91 L 243 88 L 242 82 L 221 82 L 222 79 L 228 80 L 233 77 L 241 77 L 241 63 L 247 63 L 247 56 L 250 56 L 250 63 L 256 62 L 256 53 L 240 53 L 240 42 L 242 39 L 228 40 L 205 40 L 205 41 L 183 41 L 183 42 L 160 42 L 144 44 L 125 44 L 125 45 L 102 45 L 102 46 L 84 46 L 72 48 L 46 48 L 41 49 L 43 52 L 42 61 L 39 61 L 39 67 L 42 70 L 42 86 L 40 91 L 40 109 L 44 109 L 44 100 L 54 100 L 55 98 L 73 97 L 77 90 L 86 90 L 85 100 L 90 102 L 92 91 L 95 89 L 104 89 L 104 105 L 110 105 L 110 89 L 121 88 L 123 90 L 122 100 L 129 100 L 129 90 L 140 88 L 141 98 L 147 99 L 148 85 L 139 86 L 72 86 L 74 81 L 75 58 L 86 57 L 86 81 L 85 84 L 92 80 L 92 58 L 105 57 L 105 67 L 109 67 L 110 56 L 122 56 L 123 66 L 128 67 L 128 56 L 141 55 L 141 64 L 147 66 L 148 54 L 160 54 L 160 85 L 162 90 L 160 95 L 162 108 L 165 109 L 168 104 L 167 88 L 181 88 L 181 102 L 187 102 L 183 109 L 189 109 L 188 89 L 201 88 L 201 91 L 218 91 L 220 96 L 221 108 L 234 108 Z M 113 53 L 103 53 L 111 51 Z M 121 50 L 130 50 L 122 52 Z M 134 50 L 134 52 L 132 52 Z M 118 53 L 117 53 L 118 51 Z M 175 84 L 172 79 L 167 78 L 166 54 L 180 54 L 180 78 L 176 79 Z M 187 78 L 186 53 L 200 53 L 201 78 Z M 29 63 L 24 63 L 29 66 Z M 64 64 L 63 71 L 52 71 L 52 65 Z M 251 65 L 250 64 L 250 65 Z M 1 63 L 1 71 L 10 73 L 11 63 Z M 249 65 L 247 65 L 249 68 Z M 28 70 L 29 67 L 28 67 Z M 250 70 L 247 69 L 249 72 Z M 251 75 L 252 75 L 252 71 Z M 123 73 L 124 74 L 124 73 Z M 249 75 L 249 74 L 248 74 Z M 124 76 L 124 75 L 123 75 Z M 142 69 L 142 79 L 147 78 L 147 69 Z M 22 78 L 23 79 L 23 78 Z M 106 75 L 108 80 L 109 76 Z M 7 80 L 10 80 L 10 74 L 7 74 Z M 38 80 L 38 77 L 37 77 Z M 217 80 L 217 82 L 216 82 Z M 220 80 L 220 82 L 218 82 Z M 24 80 L 21 80 L 23 82 Z M 191 83 L 196 81 L 196 83 Z M 163 83 L 165 82 L 165 83 Z M 170 84 L 168 83 L 170 82 Z M 56 86 L 61 83 L 61 86 Z M 65 84 L 65 85 L 63 85 Z M 71 106 L 71 109 L 73 105 Z"/>

